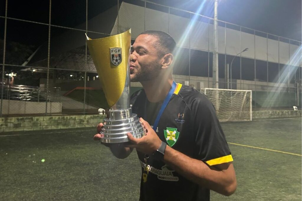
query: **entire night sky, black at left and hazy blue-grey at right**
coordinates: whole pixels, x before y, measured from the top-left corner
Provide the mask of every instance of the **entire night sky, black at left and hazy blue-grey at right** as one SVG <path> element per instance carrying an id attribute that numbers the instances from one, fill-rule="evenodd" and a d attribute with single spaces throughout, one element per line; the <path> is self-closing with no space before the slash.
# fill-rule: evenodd
<path id="1" fill-rule="evenodd" d="M 195 12 L 203 5 L 200 14 L 213 17 L 214 0 L 150 0 L 162 5 Z M 75 4 L 76 2 L 76 4 Z M 137 2 L 130 1 L 130 2 Z M 185 2 L 185 3 L 184 3 Z M 117 0 L 89 0 L 88 19 L 111 8 Z M 85 0 L 53 0 L 51 23 L 75 27 L 86 18 Z M 0 0 L 0 16 L 5 16 L 5 0 Z M 48 23 L 49 1 L 8 0 L 8 17 Z M 301 0 L 219 0 L 218 19 L 244 27 L 268 32 L 301 41 Z M 34 46 L 47 42 L 48 27 L 8 20 L 8 41 L 17 41 Z M 0 18 L 0 38 L 4 37 L 4 18 Z M 52 30 L 52 36 L 61 33 Z M 22 36 L 23 37 L 22 37 Z M 28 35 L 31 35 L 27 37 Z"/>

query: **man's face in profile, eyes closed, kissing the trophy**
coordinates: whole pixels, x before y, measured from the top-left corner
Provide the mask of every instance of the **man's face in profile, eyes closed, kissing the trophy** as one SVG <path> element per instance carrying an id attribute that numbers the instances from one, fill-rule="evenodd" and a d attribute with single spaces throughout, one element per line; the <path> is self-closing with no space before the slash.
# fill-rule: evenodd
<path id="1" fill-rule="evenodd" d="M 156 36 L 142 34 L 137 36 L 131 48 L 130 80 L 132 82 L 149 81 L 160 72 L 160 58 L 154 47 Z"/>

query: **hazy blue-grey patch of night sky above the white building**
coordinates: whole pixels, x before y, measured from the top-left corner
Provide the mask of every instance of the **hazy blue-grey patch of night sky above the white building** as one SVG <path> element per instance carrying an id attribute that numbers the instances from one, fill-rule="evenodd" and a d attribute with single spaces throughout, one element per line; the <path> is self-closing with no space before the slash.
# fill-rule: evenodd
<path id="1" fill-rule="evenodd" d="M 151 0 L 214 17 L 214 0 Z M 185 3 L 184 3 L 185 2 Z M 301 41 L 301 0 L 218 0 L 218 19 Z"/>

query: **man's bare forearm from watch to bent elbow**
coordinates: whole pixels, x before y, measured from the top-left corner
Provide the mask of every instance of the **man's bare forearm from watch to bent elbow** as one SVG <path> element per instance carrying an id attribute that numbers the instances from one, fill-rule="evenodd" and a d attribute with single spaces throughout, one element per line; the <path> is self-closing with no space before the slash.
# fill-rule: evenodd
<path id="1" fill-rule="evenodd" d="M 164 162 L 185 178 L 217 193 L 229 196 L 236 190 L 236 176 L 233 164 L 227 170 L 207 166 L 204 162 L 166 147 Z"/>

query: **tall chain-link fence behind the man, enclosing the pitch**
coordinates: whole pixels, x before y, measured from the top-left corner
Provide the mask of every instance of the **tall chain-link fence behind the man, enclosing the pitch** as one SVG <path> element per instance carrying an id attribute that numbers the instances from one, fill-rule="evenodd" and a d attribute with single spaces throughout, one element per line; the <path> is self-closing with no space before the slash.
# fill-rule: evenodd
<path id="1" fill-rule="evenodd" d="M 132 28 L 133 40 L 145 30 L 170 33 L 178 46 L 175 80 L 213 87 L 212 18 L 141 0 L 81 0 L 73 7 L 50 0 L 39 11 L 31 3 L 24 11 L 9 0 L 1 4 L 1 116 L 106 108 L 85 33 L 101 38 Z M 301 41 L 217 21 L 219 88 L 252 90 L 253 109 L 301 107 Z"/>

